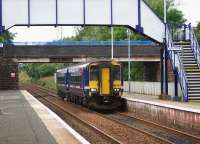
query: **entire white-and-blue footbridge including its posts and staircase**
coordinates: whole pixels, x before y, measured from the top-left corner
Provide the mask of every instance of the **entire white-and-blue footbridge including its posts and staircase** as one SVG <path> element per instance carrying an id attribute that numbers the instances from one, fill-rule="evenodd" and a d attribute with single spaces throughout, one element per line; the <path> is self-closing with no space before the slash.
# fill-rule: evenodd
<path id="1" fill-rule="evenodd" d="M 175 95 L 180 87 L 184 101 L 200 100 L 200 48 L 192 26 L 170 29 L 144 0 L 0 0 L 0 32 L 13 26 L 128 27 L 164 45 L 161 94 L 168 95 L 170 62 Z"/>

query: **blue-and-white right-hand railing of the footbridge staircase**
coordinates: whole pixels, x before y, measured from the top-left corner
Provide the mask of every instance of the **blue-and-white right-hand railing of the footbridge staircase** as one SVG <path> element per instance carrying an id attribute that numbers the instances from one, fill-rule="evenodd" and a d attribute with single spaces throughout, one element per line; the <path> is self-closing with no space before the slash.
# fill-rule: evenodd
<path id="1" fill-rule="evenodd" d="M 190 41 L 191 41 L 192 51 L 197 60 L 197 64 L 200 67 L 200 47 L 194 29 L 191 26 L 190 26 Z"/>

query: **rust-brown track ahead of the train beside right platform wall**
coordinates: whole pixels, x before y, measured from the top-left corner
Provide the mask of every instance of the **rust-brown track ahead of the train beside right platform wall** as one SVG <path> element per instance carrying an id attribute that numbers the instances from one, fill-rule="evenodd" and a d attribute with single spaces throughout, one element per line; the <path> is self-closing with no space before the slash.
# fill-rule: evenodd
<path id="1" fill-rule="evenodd" d="M 149 122 L 127 113 L 116 113 L 107 115 L 109 119 L 123 123 L 126 126 L 142 131 L 147 135 L 157 137 L 171 144 L 198 144 L 200 137 L 191 135 L 176 129 L 168 128 L 153 122 Z"/>

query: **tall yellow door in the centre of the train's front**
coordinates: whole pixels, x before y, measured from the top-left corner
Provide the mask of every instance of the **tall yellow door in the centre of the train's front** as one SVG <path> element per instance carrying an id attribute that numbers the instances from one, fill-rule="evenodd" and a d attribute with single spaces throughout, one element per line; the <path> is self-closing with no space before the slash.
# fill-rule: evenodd
<path id="1" fill-rule="evenodd" d="M 101 94 L 110 94 L 110 68 L 101 69 Z"/>

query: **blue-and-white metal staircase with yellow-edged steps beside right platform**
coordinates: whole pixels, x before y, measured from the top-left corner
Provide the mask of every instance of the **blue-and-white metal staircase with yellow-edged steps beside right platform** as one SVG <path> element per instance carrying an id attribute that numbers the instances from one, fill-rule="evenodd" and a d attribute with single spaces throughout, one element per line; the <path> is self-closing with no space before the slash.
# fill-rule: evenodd
<path id="1" fill-rule="evenodd" d="M 176 29 L 176 38 L 167 27 L 169 58 L 177 71 L 183 101 L 200 100 L 200 48 L 191 25 Z"/>

